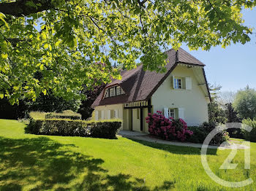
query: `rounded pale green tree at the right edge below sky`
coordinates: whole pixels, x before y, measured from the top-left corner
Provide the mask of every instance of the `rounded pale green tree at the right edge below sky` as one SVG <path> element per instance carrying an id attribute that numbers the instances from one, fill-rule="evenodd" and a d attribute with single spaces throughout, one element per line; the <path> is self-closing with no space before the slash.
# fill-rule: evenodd
<path id="1" fill-rule="evenodd" d="M 239 90 L 233 107 L 242 119 L 250 118 L 253 120 L 256 117 L 256 90 L 249 88 L 248 85 L 244 90 Z"/>

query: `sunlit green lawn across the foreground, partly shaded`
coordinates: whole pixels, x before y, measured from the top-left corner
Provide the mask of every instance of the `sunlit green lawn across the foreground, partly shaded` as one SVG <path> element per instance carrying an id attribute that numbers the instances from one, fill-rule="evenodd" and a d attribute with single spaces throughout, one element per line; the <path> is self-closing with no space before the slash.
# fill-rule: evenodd
<path id="1" fill-rule="evenodd" d="M 213 182 L 200 149 L 118 138 L 35 136 L 15 120 L 0 120 L 0 190 L 231 190 Z M 236 170 L 219 170 L 230 151 L 210 149 L 208 163 L 222 179 L 256 182 L 256 144 L 251 170 L 238 151 Z M 256 183 L 232 190 L 256 190 Z"/>

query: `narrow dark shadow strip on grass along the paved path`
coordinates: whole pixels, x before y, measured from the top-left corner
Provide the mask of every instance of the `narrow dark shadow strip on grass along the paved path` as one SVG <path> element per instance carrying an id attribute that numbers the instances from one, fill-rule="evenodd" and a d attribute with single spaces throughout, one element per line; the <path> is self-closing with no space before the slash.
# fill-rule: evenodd
<path id="1" fill-rule="evenodd" d="M 137 139 L 131 139 L 127 138 L 132 141 L 138 142 L 140 144 L 143 144 L 147 147 L 152 147 L 154 149 L 161 149 L 167 152 L 171 152 L 173 154 L 178 155 L 201 155 L 201 148 L 195 148 L 195 147 L 182 147 L 182 146 L 175 146 L 175 145 L 167 145 L 167 144 L 158 144 L 158 143 L 152 143 L 148 141 L 141 141 Z M 207 149 L 207 155 L 217 155 L 217 149 Z"/>

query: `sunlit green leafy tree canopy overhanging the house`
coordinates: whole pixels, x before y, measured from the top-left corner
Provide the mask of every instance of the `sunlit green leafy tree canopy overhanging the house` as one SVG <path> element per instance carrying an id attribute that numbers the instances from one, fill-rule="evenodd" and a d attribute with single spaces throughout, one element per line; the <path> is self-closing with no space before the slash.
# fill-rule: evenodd
<path id="1" fill-rule="evenodd" d="M 255 5 L 255 0 L 2 0 L 0 98 L 14 104 L 52 91 L 78 99 L 95 79 L 100 85 L 121 78 L 112 63 L 165 71 L 168 46 L 177 49 L 184 42 L 209 50 L 244 44 L 252 28 L 244 26 L 241 9 Z"/>

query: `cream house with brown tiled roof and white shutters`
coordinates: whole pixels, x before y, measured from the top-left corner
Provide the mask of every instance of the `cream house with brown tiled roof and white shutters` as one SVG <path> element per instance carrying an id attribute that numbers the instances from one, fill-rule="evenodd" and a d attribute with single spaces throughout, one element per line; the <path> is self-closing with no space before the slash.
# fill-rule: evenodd
<path id="1" fill-rule="evenodd" d="M 136 69 L 121 72 L 91 105 L 95 120 L 120 118 L 123 130 L 148 132 L 148 113 L 162 111 L 165 117 L 182 118 L 187 125 L 208 122 L 211 101 L 204 64 L 185 50 L 168 50 L 167 71 Z"/>

